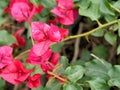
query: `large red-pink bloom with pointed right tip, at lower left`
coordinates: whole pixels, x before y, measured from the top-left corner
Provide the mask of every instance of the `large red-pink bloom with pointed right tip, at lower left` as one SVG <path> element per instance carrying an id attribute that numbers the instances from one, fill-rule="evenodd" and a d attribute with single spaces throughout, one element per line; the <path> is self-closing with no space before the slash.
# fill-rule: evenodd
<path id="1" fill-rule="evenodd" d="M 1 70 L 0 76 L 11 84 L 19 84 L 24 82 L 31 72 L 32 70 L 26 70 L 20 61 L 15 60 Z"/>

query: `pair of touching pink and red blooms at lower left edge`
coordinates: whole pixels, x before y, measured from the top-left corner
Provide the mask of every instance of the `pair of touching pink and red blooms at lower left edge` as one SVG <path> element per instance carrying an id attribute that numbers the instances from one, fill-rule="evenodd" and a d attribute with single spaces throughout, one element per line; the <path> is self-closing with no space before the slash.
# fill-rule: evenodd
<path id="1" fill-rule="evenodd" d="M 14 60 L 12 48 L 2 46 L 0 51 L 0 76 L 11 84 L 29 82 L 32 70 L 27 70 L 20 60 Z"/>

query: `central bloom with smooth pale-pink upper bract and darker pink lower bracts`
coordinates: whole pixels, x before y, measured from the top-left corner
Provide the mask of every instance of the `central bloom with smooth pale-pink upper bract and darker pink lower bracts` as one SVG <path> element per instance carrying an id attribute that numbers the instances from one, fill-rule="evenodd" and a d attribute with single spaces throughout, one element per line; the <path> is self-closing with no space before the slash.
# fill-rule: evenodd
<path id="1" fill-rule="evenodd" d="M 26 62 L 34 65 L 46 62 L 52 54 L 52 51 L 49 48 L 50 43 L 50 41 L 36 43 L 30 50 L 30 54 Z"/>

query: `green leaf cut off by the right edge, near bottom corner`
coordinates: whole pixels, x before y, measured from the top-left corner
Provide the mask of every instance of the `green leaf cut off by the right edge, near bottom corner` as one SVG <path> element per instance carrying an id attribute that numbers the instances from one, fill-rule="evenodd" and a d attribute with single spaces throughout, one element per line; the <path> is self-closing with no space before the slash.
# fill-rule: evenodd
<path id="1" fill-rule="evenodd" d="M 108 81 L 109 86 L 117 86 L 120 88 L 120 65 L 114 65 L 108 72 L 110 80 Z"/>

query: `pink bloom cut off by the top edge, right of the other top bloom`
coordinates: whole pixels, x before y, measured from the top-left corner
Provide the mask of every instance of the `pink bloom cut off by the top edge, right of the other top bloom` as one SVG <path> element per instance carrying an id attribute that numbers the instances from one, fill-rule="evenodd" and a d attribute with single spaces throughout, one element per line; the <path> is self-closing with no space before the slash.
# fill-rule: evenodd
<path id="1" fill-rule="evenodd" d="M 71 25 L 75 21 L 72 0 L 56 0 L 57 7 L 51 12 L 58 16 L 59 22 L 64 25 Z"/>

